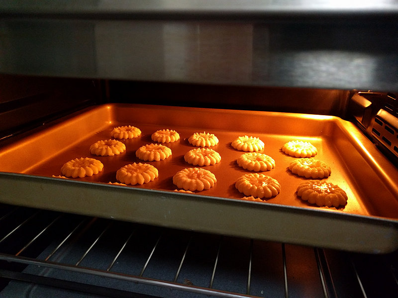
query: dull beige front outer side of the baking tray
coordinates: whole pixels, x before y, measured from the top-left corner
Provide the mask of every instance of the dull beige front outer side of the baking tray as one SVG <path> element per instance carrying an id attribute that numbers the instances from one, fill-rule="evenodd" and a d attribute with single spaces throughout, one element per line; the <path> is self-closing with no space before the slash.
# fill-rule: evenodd
<path id="1" fill-rule="evenodd" d="M 398 221 L 396 220 L 173 191 L 134 189 L 106 183 L 69 181 L 68 179 L 28 174 L 0 172 L 0 180 L 7 182 L 0 184 L 0 192 L 7 189 L 5 184 L 13 185 L 13 189 L 17 193 L 21 193 L 22 190 L 24 200 L 19 200 L 18 204 L 13 202 L 12 195 L 1 198 L 1 203 L 10 205 L 354 252 L 378 254 L 389 253 L 398 248 Z M 17 185 L 22 186 L 18 189 Z M 29 190 L 23 185 L 29 186 Z M 82 189 L 84 192 L 81 192 Z M 51 196 L 54 191 L 61 191 L 61 193 Z M 116 210 L 111 210 L 112 208 L 107 205 L 101 207 L 101 204 L 99 204 L 96 209 L 90 210 L 90 198 L 87 202 L 87 194 L 96 198 L 100 203 L 111 204 L 114 202 L 114 197 L 108 196 L 109 192 L 113 195 L 117 194 L 118 200 L 128 202 L 128 204 L 123 205 L 123 209 L 117 209 L 116 206 Z M 44 198 L 38 200 L 38 194 L 43 195 Z M 77 203 L 72 210 L 70 207 L 62 205 L 70 199 L 70 196 L 73 196 L 74 202 Z M 51 197 L 53 199 L 50 202 Z M 78 201 L 79 199 L 80 201 Z M 166 206 L 167 208 L 150 208 L 152 204 L 148 201 L 156 201 L 155 203 L 158 206 Z M 113 204 L 113 208 L 115 205 L 121 204 Z M 203 221 L 198 218 L 203 214 L 211 214 L 214 218 L 218 217 L 218 212 L 215 209 L 220 206 L 223 210 L 227 208 L 231 212 L 231 217 L 235 221 L 234 224 L 230 225 L 221 221 L 219 225 L 212 225 L 208 218 Z M 184 215 L 185 218 L 189 217 L 195 222 L 186 222 L 184 218 L 175 215 L 167 218 L 181 207 L 189 211 Z M 83 211 L 79 211 L 79 208 L 82 208 Z M 141 214 L 140 211 L 142 210 L 147 213 Z M 127 211 L 131 212 L 132 216 L 130 216 L 131 214 L 126 216 L 124 213 Z M 280 226 L 280 222 L 286 220 L 287 215 L 289 215 L 289 221 L 285 221 Z M 314 221 L 317 224 L 316 228 L 308 232 L 308 224 Z M 196 223 L 201 225 L 196 226 Z M 261 227 L 252 229 L 250 224 L 261 225 Z M 236 225 L 242 228 L 236 229 Z M 331 225 L 335 229 L 332 233 L 336 233 L 337 238 L 328 235 Z M 355 228 L 353 228 L 353 225 Z M 277 227 L 277 230 L 274 230 L 275 227 Z M 310 228 L 312 227 L 310 226 Z M 370 233 L 365 233 L 365 231 L 370 231 Z"/>

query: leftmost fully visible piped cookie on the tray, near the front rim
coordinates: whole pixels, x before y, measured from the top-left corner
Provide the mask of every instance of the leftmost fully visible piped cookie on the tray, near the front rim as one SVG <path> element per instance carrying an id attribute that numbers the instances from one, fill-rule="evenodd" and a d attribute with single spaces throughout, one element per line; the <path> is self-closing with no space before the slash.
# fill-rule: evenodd
<path id="1" fill-rule="evenodd" d="M 98 174 L 103 169 L 103 164 L 100 160 L 88 157 L 75 158 L 61 167 L 62 175 L 72 178 L 83 178 L 86 176 L 93 176 Z"/>

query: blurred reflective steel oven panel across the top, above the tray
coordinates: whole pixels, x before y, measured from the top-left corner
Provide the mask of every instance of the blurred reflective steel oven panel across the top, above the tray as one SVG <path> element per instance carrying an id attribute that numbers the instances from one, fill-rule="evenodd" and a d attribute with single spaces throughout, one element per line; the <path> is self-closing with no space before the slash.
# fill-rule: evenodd
<path id="1" fill-rule="evenodd" d="M 395 1 L 2 1 L 0 73 L 398 89 Z"/>

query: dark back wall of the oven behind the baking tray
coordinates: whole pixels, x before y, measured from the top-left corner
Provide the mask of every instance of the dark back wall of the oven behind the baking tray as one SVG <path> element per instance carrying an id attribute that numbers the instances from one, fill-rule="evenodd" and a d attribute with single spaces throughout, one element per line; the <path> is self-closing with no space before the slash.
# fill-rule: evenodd
<path id="1" fill-rule="evenodd" d="M 344 118 L 350 91 L 137 81 L 107 82 L 109 102 L 284 111 Z"/>

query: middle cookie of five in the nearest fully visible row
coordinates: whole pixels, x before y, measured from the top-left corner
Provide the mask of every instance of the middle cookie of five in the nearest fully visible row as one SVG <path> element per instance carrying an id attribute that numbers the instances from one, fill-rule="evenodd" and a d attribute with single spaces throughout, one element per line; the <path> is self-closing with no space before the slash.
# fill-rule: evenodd
<path id="1" fill-rule="evenodd" d="M 202 191 L 213 187 L 217 179 L 203 168 L 185 168 L 173 176 L 173 184 L 190 191 Z"/>

